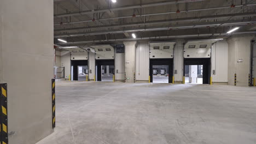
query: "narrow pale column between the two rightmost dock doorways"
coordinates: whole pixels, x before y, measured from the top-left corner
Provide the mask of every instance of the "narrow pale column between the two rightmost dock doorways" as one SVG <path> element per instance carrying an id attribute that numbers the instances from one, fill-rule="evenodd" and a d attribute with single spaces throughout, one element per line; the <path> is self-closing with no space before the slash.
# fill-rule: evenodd
<path id="1" fill-rule="evenodd" d="M 174 47 L 174 70 L 177 71 L 177 74 L 174 73 L 175 83 L 182 83 L 183 81 L 183 69 L 184 69 L 184 57 L 183 57 L 183 47 L 185 40 L 177 40 L 177 43 Z"/>

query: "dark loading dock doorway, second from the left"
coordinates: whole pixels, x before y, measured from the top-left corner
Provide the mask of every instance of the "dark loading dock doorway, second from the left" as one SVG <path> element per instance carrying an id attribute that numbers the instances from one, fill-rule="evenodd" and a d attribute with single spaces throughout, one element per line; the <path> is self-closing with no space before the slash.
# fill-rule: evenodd
<path id="1" fill-rule="evenodd" d="M 113 80 L 113 74 L 114 74 L 113 69 L 114 69 L 115 61 L 114 59 L 104 59 L 104 60 L 96 60 L 96 78 L 97 78 L 96 80 L 97 81 L 109 81 L 108 80 L 109 76 L 107 75 L 104 76 L 105 73 L 107 72 L 106 71 L 107 65 L 110 67 L 109 69 L 111 71 L 108 71 L 108 72 L 110 72 L 110 75 L 112 75 L 112 80 Z M 103 75 L 103 79 L 102 79 L 102 75 Z"/>

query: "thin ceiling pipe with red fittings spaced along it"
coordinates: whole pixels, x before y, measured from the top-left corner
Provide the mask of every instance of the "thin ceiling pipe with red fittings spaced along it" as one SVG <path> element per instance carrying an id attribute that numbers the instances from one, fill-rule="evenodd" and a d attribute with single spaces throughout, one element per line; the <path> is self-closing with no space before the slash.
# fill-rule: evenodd
<path id="1" fill-rule="evenodd" d="M 247 4 L 247 5 L 236 5 L 236 8 L 238 7 L 251 7 L 254 6 L 255 4 Z M 190 12 L 195 12 L 195 11 L 205 11 L 205 10 L 216 10 L 216 9 L 226 9 L 226 8 L 230 8 L 230 6 L 226 6 L 226 7 L 215 7 L 215 8 L 206 8 L 206 9 L 193 9 L 193 10 L 182 10 L 179 11 L 179 13 L 190 13 Z M 153 16 L 153 15 L 166 15 L 166 14 L 175 14 L 177 13 L 177 11 L 170 11 L 170 12 L 166 12 L 166 13 L 154 13 L 154 14 L 143 14 L 143 15 L 138 15 L 139 17 L 143 17 L 143 16 Z M 110 17 L 110 18 L 106 18 L 106 19 L 98 19 L 95 21 L 106 21 L 106 20 L 116 20 L 116 19 L 125 19 L 125 18 L 131 18 L 133 17 L 132 15 L 130 16 L 119 16 L 119 17 Z M 75 21 L 75 22 L 66 22 L 66 23 L 55 23 L 54 26 L 57 25 L 68 25 L 68 24 L 75 24 L 75 23 L 84 23 L 84 22 L 93 22 L 92 20 L 85 20 L 85 21 Z"/>

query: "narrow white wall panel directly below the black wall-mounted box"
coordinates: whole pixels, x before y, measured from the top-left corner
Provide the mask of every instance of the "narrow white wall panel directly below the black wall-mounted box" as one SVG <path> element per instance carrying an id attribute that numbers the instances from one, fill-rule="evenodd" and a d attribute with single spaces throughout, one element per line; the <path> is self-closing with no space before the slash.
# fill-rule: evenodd
<path id="1" fill-rule="evenodd" d="M 117 73 L 118 70 L 118 73 Z M 115 53 L 115 80 L 124 81 L 125 53 Z"/>

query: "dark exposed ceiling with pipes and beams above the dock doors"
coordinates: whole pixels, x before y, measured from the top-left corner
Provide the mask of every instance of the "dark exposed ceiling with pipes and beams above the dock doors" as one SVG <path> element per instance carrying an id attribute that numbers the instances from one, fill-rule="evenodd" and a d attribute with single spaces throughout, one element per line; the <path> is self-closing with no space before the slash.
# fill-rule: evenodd
<path id="1" fill-rule="evenodd" d="M 212 39 L 256 34 L 255 0 L 54 0 L 62 46 L 126 40 Z M 226 34 L 239 26 L 236 32 Z M 132 38 L 135 33 L 137 38 Z"/>

